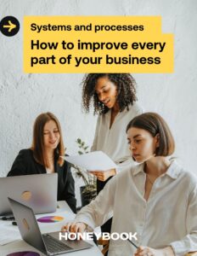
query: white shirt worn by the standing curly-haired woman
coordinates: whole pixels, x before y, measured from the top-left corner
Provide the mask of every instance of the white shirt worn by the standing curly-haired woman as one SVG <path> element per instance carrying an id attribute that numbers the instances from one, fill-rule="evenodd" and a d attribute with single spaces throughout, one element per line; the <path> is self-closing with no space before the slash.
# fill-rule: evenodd
<path id="1" fill-rule="evenodd" d="M 91 151 L 101 150 L 108 154 L 119 166 L 117 171 L 134 164 L 127 144 L 126 128 L 128 123 L 140 113 L 143 113 L 143 109 L 134 102 L 129 110 L 125 108 L 122 112 L 117 113 L 111 127 L 111 109 L 107 113 L 98 115 Z"/>

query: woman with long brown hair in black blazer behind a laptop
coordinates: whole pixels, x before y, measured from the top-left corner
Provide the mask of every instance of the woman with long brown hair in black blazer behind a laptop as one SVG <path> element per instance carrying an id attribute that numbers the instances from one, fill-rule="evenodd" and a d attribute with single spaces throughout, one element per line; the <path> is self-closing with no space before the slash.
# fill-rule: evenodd
<path id="1" fill-rule="evenodd" d="M 65 154 L 59 120 L 53 113 L 38 115 L 33 127 L 31 148 L 22 149 L 14 160 L 8 176 L 58 173 L 58 201 L 65 200 L 76 212 L 75 183 Z"/>

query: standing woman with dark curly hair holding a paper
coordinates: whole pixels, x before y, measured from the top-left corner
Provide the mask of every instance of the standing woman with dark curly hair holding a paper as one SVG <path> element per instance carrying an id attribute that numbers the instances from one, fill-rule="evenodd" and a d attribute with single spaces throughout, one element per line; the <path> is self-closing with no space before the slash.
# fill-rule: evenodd
<path id="1" fill-rule="evenodd" d="M 99 193 L 117 172 L 133 165 L 125 130 L 128 122 L 142 113 L 142 108 L 136 103 L 136 82 L 129 73 L 89 73 L 82 84 L 83 107 L 89 112 L 93 100 L 94 113 L 98 114 L 91 150 L 103 151 L 118 166 L 105 172 L 92 172 L 97 177 Z M 110 227 L 111 218 L 101 230 L 110 232 Z"/>

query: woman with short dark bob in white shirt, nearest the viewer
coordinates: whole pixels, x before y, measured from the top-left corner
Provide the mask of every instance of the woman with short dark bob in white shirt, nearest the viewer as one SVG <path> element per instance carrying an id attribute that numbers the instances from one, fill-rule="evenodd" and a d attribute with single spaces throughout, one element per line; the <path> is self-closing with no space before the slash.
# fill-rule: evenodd
<path id="1" fill-rule="evenodd" d="M 137 233 L 138 246 L 110 240 L 109 256 L 183 256 L 197 250 L 197 178 L 175 160 L 175 144 L 164 119 L 143 113 L 127 125 L 127 139 L 138 166 L 110 180 L 94 201 L 63 230 L 83 232 L 114 211 L 111 234 Z"/>

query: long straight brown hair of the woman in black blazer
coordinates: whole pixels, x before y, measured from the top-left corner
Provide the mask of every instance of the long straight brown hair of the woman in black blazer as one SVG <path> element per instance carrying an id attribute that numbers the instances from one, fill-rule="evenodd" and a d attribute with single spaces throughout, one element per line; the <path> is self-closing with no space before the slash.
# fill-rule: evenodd
<path id="1" fill-rule="evenodd" d="M 65 147 L 63 143 L 62 131 L 61 126 L 59 124 L 59 120 L 53 113 L 41 113 L 37 116 L 37 119 L 33 125 L 33 140 L 31 144 L 31 150 L 33 151 L 33 156 L 35 160 L 42 166 L 48 167 L 48 159 L 46 158 L 45 148 L 44 148 L 44 138 L 43 138 L 43 130 L 44 125 L 48 123 L 48 121 L 53 120 L 56 125 L 58 126 L 59 130 L 59 144 L 58 147 L 55 148 L 54 156 L 58 157 L 59 166 L 64 164 L 63 158 L 60 155 L 65 154 Z"/>

